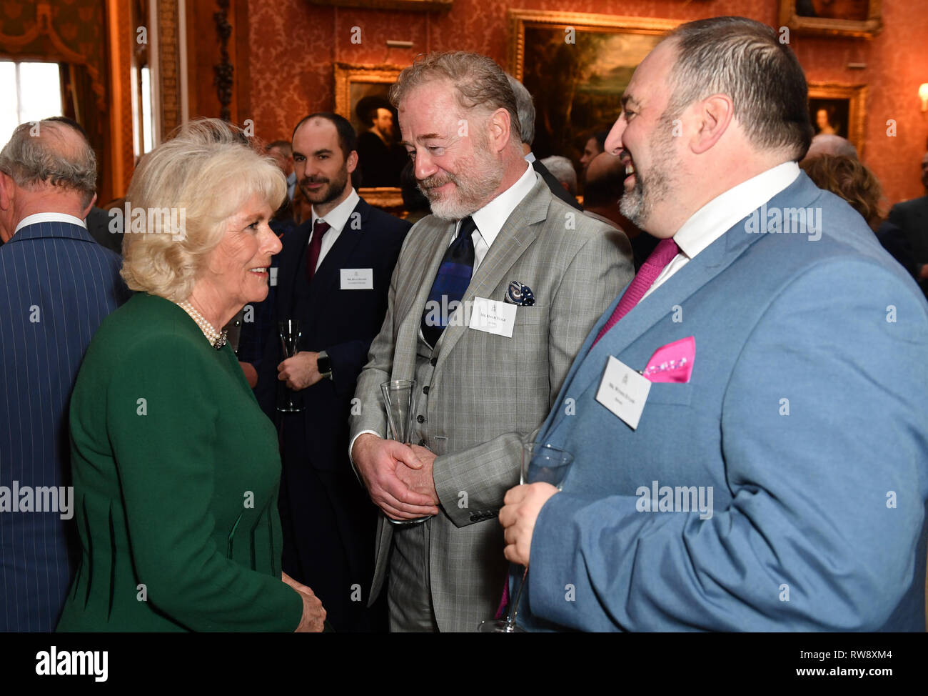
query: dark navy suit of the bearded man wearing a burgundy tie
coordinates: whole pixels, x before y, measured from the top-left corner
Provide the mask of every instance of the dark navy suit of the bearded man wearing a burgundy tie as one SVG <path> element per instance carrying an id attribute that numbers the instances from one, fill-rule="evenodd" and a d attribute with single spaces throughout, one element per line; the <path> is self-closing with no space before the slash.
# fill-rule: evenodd
<path id="1" fill-rule="evenodd" d="M 319 584 L 314 589 L 324 606 L 329 602 L 329 620 L 336 630 L 370 630 L 364 617 L 350 618 L 347 614 L 351 611 L 336 606 L 342 595 L 347 597 L 342 587 L 337 587 L 337 596 L 332 597 L 324 583 L 336 582 L 341 571 L 335 569 L 344 568 L 344 564 L 352 584 L 367 588 L 373 574 L 376 508 L 352 472 L 348 417 L 357 376 L 386 314 L 393 266 L 410 227 L 361 199 L 312 282 L 306 281 L 310 220 L 284 234 L 278 255 L 275 320 L 267 336 L 256 394 L 264 412 L 284 428 L 280 503 L 284 570 L 311 587 Z M 342 289 L 342 269 L 370 269 L 373 289 Z M 277 337 L 277 321 L 281 319 L 299 320 L 303 333 L 300 349 L 325 350 L 332 364 L 331 380 L 322 379 L 297 392 L 297 400 L 304 406 L 302 418 L 290 415 L 281 419 L 276 413 L 277 390 L 284 388 L 277 380 L 277 364 L 283 360 Z M 294 437 L 286 432 L 294 423 L 300 424 L 304 440 L 300 434 Z M 319 491 L 320 487 L 326 490 Z M 314 509 L 307 509 L 310 507 Z M 318 534 L 329 534 L 323 548 Z M 303 579 L 297 577 L 301 572 L 294 564 L 297 558 Z M 332 570 L 325 571 L 329 566 Z M 314 577 L 307 568 L 316 568 L 312 572 L 324 577 Z M 329 593 L 335 592 L 329 588 Z M 354 605 L 361 606 L 347 603 L 349 608 Z"/>

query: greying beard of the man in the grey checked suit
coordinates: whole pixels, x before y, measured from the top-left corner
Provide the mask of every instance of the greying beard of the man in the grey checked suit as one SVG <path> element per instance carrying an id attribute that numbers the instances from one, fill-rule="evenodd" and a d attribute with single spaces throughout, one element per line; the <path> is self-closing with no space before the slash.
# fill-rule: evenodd
<path id="1" fill-rule="evenodd" d="M 458 173 L 436 174 L 419 181 L 419 190 L 429 199 L 432 215 L 443 220 L 459 220 L 480 210 L 503 180 L 503 167 L 489 152 L 478 146 L 473 156 L 458 160 Z M 445 193 L 437 189 L 447 183 L 454 188 Z"/>

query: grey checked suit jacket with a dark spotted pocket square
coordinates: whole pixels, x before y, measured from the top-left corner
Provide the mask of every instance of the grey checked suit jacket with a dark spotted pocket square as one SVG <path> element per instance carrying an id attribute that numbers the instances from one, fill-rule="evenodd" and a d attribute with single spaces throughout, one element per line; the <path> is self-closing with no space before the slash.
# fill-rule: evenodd
<path id="1" fill-rule="evenodd" d="M 574 229 L 575 228 L 575 229 Z M 380 383 L 413 379 L 419 322 L 455 223 L 425 217 L 400 252 L 387 315 L 358 378 L 352 437 L 386 432 Z M 432 352 L 427 395 L 419 385 L 418 436 L 438 456 L 441 512 L 430 519 L 432 603 L 442 631 L 472 631 L 496 610 L 507 572 L 496 512 L 519 482 L 522 438 L 548 414 L 590 327 L 630 282 L 625 235 L 535 187 L 499 231 L 464 295 L 502 301 L 510 281 L 528 285 L 511 338 L 451 325 Z M 388 566 L 393 526 L 381 516 L 371 598 Z"/>

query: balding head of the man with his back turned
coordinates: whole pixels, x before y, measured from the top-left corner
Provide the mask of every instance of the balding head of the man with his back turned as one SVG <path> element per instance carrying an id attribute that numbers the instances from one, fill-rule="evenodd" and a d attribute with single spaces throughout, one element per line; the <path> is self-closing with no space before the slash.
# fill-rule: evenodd
<path id="1" fill-rule="evenodd" d="M 58 118 L 22 124 L 0 151 L 5 240 L 19 220 L 34 213 L 86 217 L 96 198 L 97 157 L 75 126 Z"/>

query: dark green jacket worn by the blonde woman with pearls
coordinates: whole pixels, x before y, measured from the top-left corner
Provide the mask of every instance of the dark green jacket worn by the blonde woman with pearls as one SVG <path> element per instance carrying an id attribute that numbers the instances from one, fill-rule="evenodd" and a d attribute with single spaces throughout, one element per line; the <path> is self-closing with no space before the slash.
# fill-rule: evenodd
<path id="1" fill-rule="evenodd" d="M 71 397 L 83 555 L 59 631 L 292 631 L 280 457 L 232 349 L 138 294 L 100 325 Z"/>

